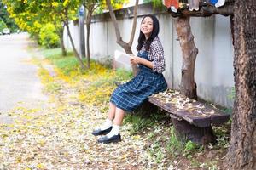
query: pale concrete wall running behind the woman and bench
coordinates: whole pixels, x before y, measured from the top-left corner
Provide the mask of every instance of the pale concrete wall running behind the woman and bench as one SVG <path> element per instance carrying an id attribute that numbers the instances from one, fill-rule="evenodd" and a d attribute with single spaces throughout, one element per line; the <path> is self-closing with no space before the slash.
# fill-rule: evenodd
<path id="1" fill-rule="evenodd" d="M 160 39 L 164 46 L 166 71 L 164 75 L 169 88 L 179 88 L 181 82 L 182 54 L 174 19 L 170 14 L 157 14 L 160 20 Z M 137 31 L 132 51 L 137 54 L 137 37 L 139 25 L 143 18 L 137 18 Z M 129 41 L 132 18 L 118 20 L 121 35 Z M 190 25 L 195 36 L 195 45 L 199 49 L 195 64 L 195 82 L 197 94 L 212 103 L 231 107 L 230 89 L 234 86 L 233 46 L 230 32 L 230 19 L 221 15 L 208 18 L 191 18 Z M 116 43 L 113 23 L 110 20 L 95 21 L 91 25 L 90 54 L 94 59 L 105 56 L 113 57 L 114 50 L 124 51 Z"/>

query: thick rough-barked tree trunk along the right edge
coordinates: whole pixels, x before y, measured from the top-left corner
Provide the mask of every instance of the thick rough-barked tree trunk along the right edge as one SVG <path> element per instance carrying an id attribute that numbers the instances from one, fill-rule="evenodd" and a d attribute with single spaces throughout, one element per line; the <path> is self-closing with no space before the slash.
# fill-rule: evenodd
<path id="1" fill-rule="evenodd" d="M 256 169 L 256 1 L 235 3 L 235 89 L 225 169 Z"/>

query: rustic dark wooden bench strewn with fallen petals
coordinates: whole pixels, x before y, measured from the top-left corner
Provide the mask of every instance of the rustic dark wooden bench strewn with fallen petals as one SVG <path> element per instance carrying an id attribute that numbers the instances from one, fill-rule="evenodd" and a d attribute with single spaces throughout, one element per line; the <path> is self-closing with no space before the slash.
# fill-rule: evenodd
<path id="1" fill-rule="evenodd" d="M 230 115 L 172 89 L 148 97 L 148 102 L 170 113 L 179 139 L 189 139 L 197 144 L 216 142 L 212 125 L 219 126 L 230 118 Z"/>

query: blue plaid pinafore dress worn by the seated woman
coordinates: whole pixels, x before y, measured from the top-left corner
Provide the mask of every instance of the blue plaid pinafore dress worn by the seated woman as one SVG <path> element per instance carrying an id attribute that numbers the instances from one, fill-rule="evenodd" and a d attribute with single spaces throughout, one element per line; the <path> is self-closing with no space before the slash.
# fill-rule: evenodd
<path id="1" fill-rule="evenodd" d="M 139 57 L 148 59 L 146 51 L 139 52 Z M 139 72 L 131 81 L 120 85 L 113 91 L 110 102 L 124 111 L 134 111 L 151 94 L 164 91 L 167 88 L 162 74 L 153 72 L 145 65 L 139 65 Z"/>

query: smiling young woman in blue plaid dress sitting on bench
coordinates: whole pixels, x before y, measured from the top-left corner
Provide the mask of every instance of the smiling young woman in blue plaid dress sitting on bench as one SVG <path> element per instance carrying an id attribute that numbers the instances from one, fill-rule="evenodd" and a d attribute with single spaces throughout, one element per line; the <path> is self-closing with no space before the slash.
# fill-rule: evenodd
<path id="1" fill-rule="evenodd" d="M 162 75 L 166 65 L 158 33 L 157 18 L 152 14 L 144 16 L 138 37 L 138 54 L 131 55 L 130 58 L 132 65 L 138 65 L 139 72 L 131 81 L 113 91 L 107 120 L 92 132 L 95 136 L 107 134 L 98 139 L 99 143 L 119 142 L 121 140 L 119 129 L 125 111 L 135 110 L 151 94 L 166 90 L 166 80 Z"/>

